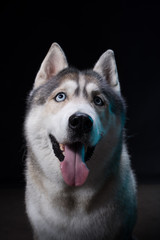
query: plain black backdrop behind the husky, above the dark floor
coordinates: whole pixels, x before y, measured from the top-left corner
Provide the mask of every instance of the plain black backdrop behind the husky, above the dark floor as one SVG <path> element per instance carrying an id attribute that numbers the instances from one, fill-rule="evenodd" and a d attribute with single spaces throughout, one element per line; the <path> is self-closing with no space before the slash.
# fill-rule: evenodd
<path id="1" fill-rule="evenodd" d="M 151 1 L 4 1 L 0 8 L 2 185 L 23 185 L 26 97 L 52 42 L 68 62 L 92 68 L 115 52 L 126 99 L 127 142 L 138 180 L 160 176 L 160 22 Z"/>

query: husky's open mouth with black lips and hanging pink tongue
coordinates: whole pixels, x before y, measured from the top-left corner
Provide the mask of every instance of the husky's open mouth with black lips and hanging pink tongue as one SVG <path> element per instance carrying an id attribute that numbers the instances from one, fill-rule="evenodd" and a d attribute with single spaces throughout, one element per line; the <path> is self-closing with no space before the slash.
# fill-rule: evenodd
<path id="1" fill-rule="evenodd" d="M 70 186 L 81 186 L 85 183 L 89 169 L 85 162 L 94 152 L 95 147 L 89 147 L 81 142 L 59 144 L 53 135 L 49 135 L 55 156 L 61 162 L 61 172 L 64 181 Z"/>

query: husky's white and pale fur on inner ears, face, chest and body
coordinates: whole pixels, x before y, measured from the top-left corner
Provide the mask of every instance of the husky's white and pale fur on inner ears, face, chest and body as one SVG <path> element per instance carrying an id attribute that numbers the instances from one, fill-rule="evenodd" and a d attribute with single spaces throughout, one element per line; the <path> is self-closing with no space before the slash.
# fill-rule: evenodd
<path id="1" fill-rule="evenodd" d="M 48 66 L 50 60 L 55 68 Z M 94 70 L 104 74 L 102 70 L 107 63 L 115 70 L 113 54 L 104 54 Z M 66 66 L 64 53 L 57 44 L 52 45 L 34 87 L 44 84 L 46 74 L 52 76 L 53 69 L 55 74 Z M 111 87 L 120 94 L 115 71 L 111 71 L 110 81 Z M 26 117 L 26 208 L 35 239 L 129 240 L 136 216 L 136 185 L 125 144 L 122 143 L 122 151 L 119 149 L 121 117 L 110 110 L 108 102 L 105 109 L 99 110 L 90 99 L 84 98 L 84 87 L 91 98 L 91 92 L 99 90 L 96 83 L 86 85 L 85 76 L 80 76 L 79 86 L 81 94 L 75 97 L 77 83 L 65 79 L 54 90 L 52 98 L 31 107 Z M 61 91 L 67 94 L 67 99 L 57 103 L 53 97 Z M 49 134 L 59 143 L 67 143 L 68 120 L 76 112 L 86 113 L 93 119 L 88 141 L 97 146 L 86 163 L 90 173 L 85 184 L 69 187 L 63 180 Z"/>

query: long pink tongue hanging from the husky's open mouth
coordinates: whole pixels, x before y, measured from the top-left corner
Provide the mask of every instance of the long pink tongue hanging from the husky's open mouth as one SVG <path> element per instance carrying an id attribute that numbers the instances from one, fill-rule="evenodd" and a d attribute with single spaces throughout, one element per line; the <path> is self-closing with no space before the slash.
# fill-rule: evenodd
<path id="1" fill-rule="evenodd" d="M 64 181 L 70 186 L 81 186 L 87 179 L 89 169 L 84 163 L 84 145 L 65 145 L 65 158 L 61 162 L 61 172 Z"/>

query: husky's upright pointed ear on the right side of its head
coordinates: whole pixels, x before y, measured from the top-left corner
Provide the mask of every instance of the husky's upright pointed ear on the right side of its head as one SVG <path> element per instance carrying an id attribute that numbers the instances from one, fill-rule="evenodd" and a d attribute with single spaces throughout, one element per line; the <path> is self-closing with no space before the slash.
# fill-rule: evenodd
<path id="1" fill-rule="evenodd" d="M 112 50 L 102 54 L 93 70 L 103 76 L 112 89 L 120 94 L 117 66 Z"/>

